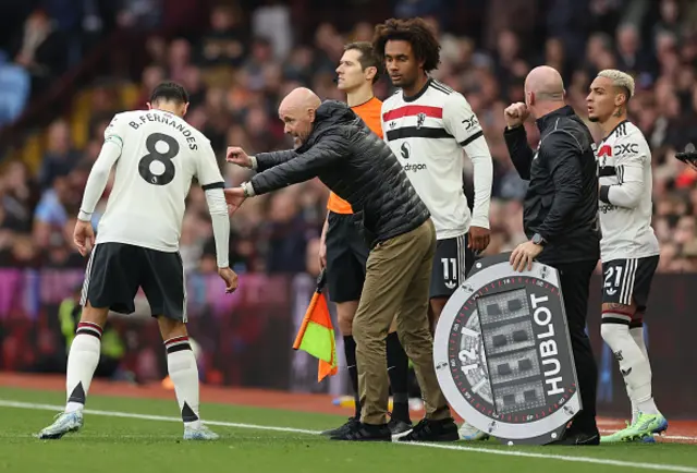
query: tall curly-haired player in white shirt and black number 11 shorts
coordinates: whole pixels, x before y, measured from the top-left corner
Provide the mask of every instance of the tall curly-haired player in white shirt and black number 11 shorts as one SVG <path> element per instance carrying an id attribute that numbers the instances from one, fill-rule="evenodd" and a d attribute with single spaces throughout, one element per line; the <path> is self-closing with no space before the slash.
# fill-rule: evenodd
<path id="1" fill-rule="evenodd" d="M 493 161 L 465 97 L 429 76 L 438 68 L 440 45 L 426 22 L 388 20 L 376 27 L 374 49 L 383 56 L 392 84 L 400 87 L 382 104 L 384 140 L 436 226 L 429 308 L 435 332 L 448 299 L 474 263 L 473 252 L 489 244 Z M 463 189 L 465 154 L 474 165 L 472 214 Z M 486 434 L 465 423 L 461 437 L 475 440 Z"/>

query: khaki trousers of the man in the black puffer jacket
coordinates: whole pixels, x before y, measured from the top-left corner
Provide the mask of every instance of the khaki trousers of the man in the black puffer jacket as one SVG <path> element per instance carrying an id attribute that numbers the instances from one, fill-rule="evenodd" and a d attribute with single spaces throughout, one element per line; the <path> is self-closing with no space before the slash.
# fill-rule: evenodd
<path id="1" fill-rule="evenodd" d="M 370 252 L 358 310 L 353 319 L 358 391 L 366 424 L 386 424 L 389 380 L 384 339 L 393 318 L 400 342 L 414 363 L 426 417 L 450 417 L 450 408 L 433 368 L 433 339 L 428 325 L 436 230 L 428 219 L 417 229 L 387 240 Z"/>

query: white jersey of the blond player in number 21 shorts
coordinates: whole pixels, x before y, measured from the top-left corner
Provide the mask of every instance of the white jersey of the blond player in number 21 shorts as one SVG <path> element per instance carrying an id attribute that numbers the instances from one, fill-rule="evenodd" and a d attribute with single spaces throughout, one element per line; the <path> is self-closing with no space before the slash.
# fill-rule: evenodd
<path id="1" fill-rule="evenodd" d="M 643 258 L 660 253 L 651 228 L 651 149 L 641 131 L 624 121 L 596 149 L 600 192 L 600 257 Z M 604 190 L 603 197 L 602 186 Z"/>

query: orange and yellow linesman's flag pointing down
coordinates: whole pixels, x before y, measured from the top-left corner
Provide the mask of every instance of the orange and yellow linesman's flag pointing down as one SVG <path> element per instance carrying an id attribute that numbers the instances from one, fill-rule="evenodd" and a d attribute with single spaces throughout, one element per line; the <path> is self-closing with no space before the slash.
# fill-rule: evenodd
<path id="1" fill-rule="evenodd" d="M 331 325 L 327 299 L 322 294 L 325 288 L 325 270 L 317 278 L 317 289 L 309 302 L 301 329 L 295 337 L 293 350 L 303 350 L 319 359 L 317 383 L 338 372 L 334 327 Z"/>

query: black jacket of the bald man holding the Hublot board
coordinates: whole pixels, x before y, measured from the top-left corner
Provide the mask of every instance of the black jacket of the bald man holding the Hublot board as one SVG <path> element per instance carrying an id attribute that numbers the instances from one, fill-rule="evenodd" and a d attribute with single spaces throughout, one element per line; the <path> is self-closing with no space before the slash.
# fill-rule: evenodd
<path id="1" fill-rule="evenodd" d="M 540 263 L 574 263 L 600 257 L 598 174 L 592 136 L 565 106 L 537 120 L 537 151 L 527 144 L 525 128 L 504 132 L 515 169 L 529 181 L 523 204 L 523 227 L 547 241 Z"/>

